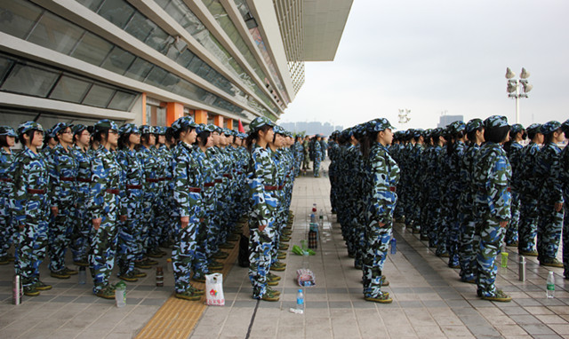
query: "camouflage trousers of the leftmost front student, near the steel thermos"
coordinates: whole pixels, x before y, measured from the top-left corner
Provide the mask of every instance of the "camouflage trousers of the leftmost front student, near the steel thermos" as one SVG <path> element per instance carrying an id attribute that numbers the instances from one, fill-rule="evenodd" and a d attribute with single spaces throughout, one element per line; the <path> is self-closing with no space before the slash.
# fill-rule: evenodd
<path id="1" fill-rule="evenodd" d="M 16 273 L 20 274 L 24 287 L 34 285 L 39 280 L 39 265 L 44 261 L 47 249 L 48 228 L 47 221 L 36 220 L 15 233 L 14 267 Z"/>

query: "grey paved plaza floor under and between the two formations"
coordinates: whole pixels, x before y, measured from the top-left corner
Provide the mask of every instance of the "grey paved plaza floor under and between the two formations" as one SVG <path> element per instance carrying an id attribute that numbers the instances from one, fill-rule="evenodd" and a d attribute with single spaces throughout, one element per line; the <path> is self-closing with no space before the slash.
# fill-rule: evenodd
<path id="1" fill-rule="evenodd" d="M 546 298 L 549 272 L 527 258 L 526 280 L 518 280 L 517 251 L 509 251 L 508 268 L 500 268 L 497 286 L 513 296 L 511 303 L 493 303 L 477 297 L 476 286 L 459 280 L 418 234 L 395 226 L 397 253 L 389 254 L 385 288 L 393 304 L 374 304 L 363 298 L 360 270 L 354 268 L 341 239 L 340 225 L 330 213 L 330 183 L 323 176 L 299 177 L 291 209 L 295 214 L 291 248 L 306 239 L 309 209 L 325 211 L 317 255 L 309 258 L 317 285 L 305 288 L 306 311 L 295 314 L 296 270 L 301 256 L 288 250 L 282 292 L 276 303 L 251 298 L 247 269 L 234 264 L 224 276 L 226 305 L 204 308 L 190 338 L 569 338 L 569 280 L 562 269 L 556 276 L 556 297 Z M 513 249 L 513 248 L 509 248 Z M 235 257 L 235 256 L 232 256 Z M 12 267 L 0 266 L 0 338 L 132 338 L 151 323 L 161 306 L 172 300 L 172 268 L 165 258 L 164 288 L 157 288 L 153 271 L 128 284 L 127 305 L 92 295 L 91 281 L 77 277 L 56 280 L 42 264 L 42 280 L 53 285 L 41 296 L 24 297 L 12 305 Z M 70 258 L 69 258 L 70 262 Z M 114 278 L 116 280 L 116 278 Z M 188 308 L 196 303 L 185 302 Z M 156 313 L 158 311 L 158 313 Z M 172 314 L 172 319 L 177 317 Z M 172 322 L 173 324 L 173 322 Z M 173 326 L 173 325 L 172 325 Z M 148 336 L 146 336 L 148 337 Z M 156 337 L 164 337 L 163 335 Z"/>

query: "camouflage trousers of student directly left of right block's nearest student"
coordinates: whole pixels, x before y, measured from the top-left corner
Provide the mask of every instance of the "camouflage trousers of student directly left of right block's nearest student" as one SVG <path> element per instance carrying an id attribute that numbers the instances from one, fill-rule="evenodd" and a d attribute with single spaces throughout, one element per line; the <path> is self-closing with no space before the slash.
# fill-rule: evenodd
<path id="1" fill-rule="evenodd" d="M 477 243 L 475 243 L 476 222 L 470 217 L 464 217 L 459 233 L 459 264 L 461 265 L 461 280 L 473 280 L 477 272 Z"/>

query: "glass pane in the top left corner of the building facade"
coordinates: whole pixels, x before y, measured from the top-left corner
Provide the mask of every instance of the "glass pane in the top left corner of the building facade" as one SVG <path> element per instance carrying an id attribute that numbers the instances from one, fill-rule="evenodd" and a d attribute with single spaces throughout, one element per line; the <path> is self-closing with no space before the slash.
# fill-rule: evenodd
<path id="1" fill-rule="evenodd" d="M 3 0 L 0 3 L 0 13 L 0 30 L 25 39 L 42 14 L 42 9 L 28 1 Z"/>

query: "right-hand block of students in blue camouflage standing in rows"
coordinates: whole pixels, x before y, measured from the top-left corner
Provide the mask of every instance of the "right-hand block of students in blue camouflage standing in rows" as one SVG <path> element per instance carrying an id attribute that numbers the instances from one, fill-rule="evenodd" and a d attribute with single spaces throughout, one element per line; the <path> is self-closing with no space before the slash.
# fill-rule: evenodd
<path id="1" fill-rule="evenodd" d="M 495 287 L 505 246 L 569 279 L 569 120 L 526 129 L 493 115 L 433 130 L 392 133 L 385 119 L 335 131 L 328 145 L 333 213 L 364 296 L 390 303 L 381 286 L 394 222 L 419 233 L 460 269 L 485 300 L 509 302 Z M 526 144 L 523 146 L 522 144 Z M 565 217 L 564 217 L 565 216 Z M 563 263 L 556 258 L 563 232 Z"/>

